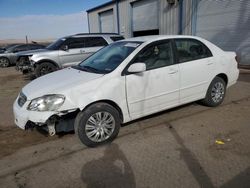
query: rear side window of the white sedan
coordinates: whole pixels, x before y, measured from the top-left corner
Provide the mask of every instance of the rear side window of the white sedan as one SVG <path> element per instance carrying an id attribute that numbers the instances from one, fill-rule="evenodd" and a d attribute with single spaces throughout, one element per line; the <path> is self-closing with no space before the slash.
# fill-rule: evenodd
<path id="1" fill-rule="evenodd" d="M 211 57 L 212 53 L 202 42 L 194 39 L 175 39 L 179 63 Z"/>

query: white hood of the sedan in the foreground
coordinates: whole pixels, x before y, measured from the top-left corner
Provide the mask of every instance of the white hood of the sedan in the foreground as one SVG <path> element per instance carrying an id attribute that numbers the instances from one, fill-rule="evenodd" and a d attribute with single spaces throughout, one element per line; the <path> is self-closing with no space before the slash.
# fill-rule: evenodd
<path id="1" fill-rule="evenodd" d="M 22 92 L 28 100 L 32 100 L 47 94 L 61 94 L 63 91 L 71 90 L 74 85 L 82 85 L 102 76 L 103 74 L 65 68 L 33 80 L 22 89 Z"/>

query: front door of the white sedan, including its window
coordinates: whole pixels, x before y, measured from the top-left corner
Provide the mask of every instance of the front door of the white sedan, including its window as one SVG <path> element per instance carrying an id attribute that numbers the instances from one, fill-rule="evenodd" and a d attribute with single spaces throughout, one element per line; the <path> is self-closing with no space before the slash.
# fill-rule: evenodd
<path id="1" fill-rule="evenodd" d="M 132 63 L 143 62 L 146 71 L 126 75 L 127 103 L 132 119 L 179 104 L 179 65 L 169 40 L 146 46 Z"/>

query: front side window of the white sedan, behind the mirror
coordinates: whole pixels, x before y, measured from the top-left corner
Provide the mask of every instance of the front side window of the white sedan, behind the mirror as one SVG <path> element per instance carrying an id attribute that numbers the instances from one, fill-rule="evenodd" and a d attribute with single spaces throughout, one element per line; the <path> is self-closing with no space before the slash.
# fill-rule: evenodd
<path id="1" fill-rule="evenodd" d="M 170 41 L 145 47 L 136 57 L 134 63 L 145 63 L 147 70 L 174 64 L 172 45 Z"/>

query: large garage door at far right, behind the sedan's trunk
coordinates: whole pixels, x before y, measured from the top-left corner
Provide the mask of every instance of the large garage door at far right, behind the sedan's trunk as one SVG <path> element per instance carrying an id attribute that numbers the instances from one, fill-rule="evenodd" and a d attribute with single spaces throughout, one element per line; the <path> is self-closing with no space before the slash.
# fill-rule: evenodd
<path id="1" fill-rule="evenodd" d="M 236 51 L 241 64 L 250 64 L 250 1 L 199 0 L 197 8 L 196 35 Z"/>

